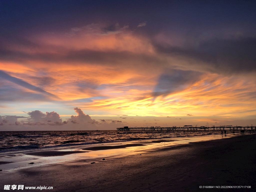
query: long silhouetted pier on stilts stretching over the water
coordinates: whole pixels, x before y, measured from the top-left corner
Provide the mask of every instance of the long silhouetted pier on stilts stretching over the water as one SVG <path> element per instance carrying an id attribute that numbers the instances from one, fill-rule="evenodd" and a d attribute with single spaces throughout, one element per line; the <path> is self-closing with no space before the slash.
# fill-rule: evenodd
<path id="1" fill-rule="evenodd" d="M 192 125 L 184 125 L 183 127 L 177 127 L 177 126 L 172 126 L 172 127 L 160 127 L 160 126 L 151 126 L 151 127 L 120 127 L 116 128 L 117 131 L 159 131 L 159 132 L 167 132 L 167 131 L 224 131 L 224 130 L 229 130 L 229 131 L 255 131 L 256 126 L 232 126 L 232 125 L 222 125 L 222 126 L 192 126 Z"/>

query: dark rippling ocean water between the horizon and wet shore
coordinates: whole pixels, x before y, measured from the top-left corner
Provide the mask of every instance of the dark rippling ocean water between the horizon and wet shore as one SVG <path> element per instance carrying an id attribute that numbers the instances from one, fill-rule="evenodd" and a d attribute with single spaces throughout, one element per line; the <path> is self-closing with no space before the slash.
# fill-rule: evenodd
<path id="1" fill-rule="evenodd" d="M 113 143 L 120 141 L 166 139 L 219 135 L 219 131 L 118 132 L 100 131 L 1 131 L 0 152 L 61 146 Z"/>

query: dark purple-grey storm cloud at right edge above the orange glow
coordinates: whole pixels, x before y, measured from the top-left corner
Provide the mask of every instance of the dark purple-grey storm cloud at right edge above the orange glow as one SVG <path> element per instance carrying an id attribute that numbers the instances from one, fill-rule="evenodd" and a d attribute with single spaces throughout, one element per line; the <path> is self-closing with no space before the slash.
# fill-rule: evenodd
<path id="1" fill-rule="evenodd" d="M 200 42 L 194 49 L 161 45 L 155 47 L 158 52 L 171 57 L 195 59 L 201 63 L 201 67 L 211 72 L 223 74 L 256 71 L 256 38 L 211 39 Z"/>

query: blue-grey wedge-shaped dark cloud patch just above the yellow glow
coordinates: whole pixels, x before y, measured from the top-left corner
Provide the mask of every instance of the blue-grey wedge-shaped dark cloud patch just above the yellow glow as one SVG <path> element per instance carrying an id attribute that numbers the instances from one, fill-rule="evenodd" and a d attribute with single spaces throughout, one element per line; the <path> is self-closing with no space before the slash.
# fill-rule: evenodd
<path id="1" fill-rule="evenodd" d="M 158 79 L 153 96 L 180 91 L 198 81 L 202 73 L 196 71 L 171 70 Z"/>

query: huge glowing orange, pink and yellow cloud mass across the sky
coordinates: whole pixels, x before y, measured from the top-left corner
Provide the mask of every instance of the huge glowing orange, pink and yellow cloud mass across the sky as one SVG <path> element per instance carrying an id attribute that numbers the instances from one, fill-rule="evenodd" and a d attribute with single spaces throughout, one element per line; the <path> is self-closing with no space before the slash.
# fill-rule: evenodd
<path id="1" fill-rule="evenodd" d="M 217 74 L 192 57 L 157 52 L 150 39 L 127 27 L 105 28 L 91 24 L 67 34 L 35 35 L 29 39 L 33 46 L 10 46 L 23 56 L 0 61 L 0 67 L 56 95 L 63 105 L 95 114 L 255 114 L 255 76 Z M 10 82 L 3 85 L 31 91 Z"/>

